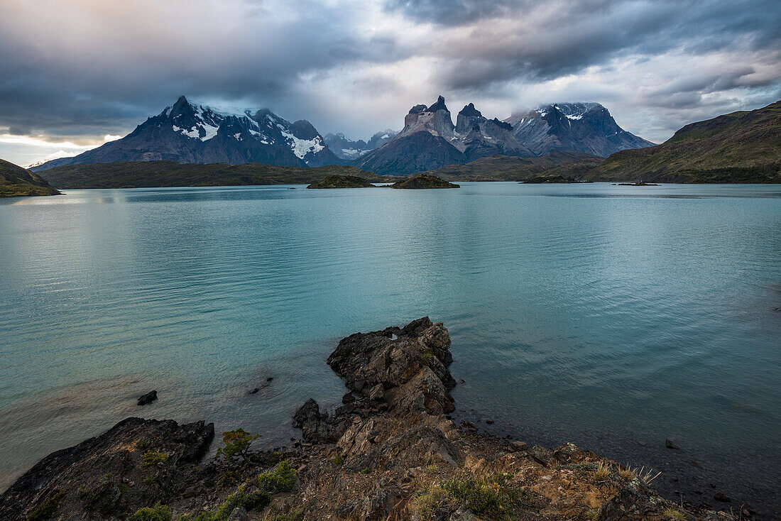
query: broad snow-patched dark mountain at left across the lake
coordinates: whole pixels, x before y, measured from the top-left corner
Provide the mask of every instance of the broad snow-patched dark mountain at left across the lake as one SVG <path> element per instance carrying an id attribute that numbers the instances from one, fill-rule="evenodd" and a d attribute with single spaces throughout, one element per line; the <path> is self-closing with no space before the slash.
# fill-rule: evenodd
<path id="1" fill-rule="evenodd" d="M 268 109 L 219 112 L 182 96 L 127 136 L 76 157 L 45 162 L 34 170 L 95 162 L 160 160 L 232 165 L 262 162 L 276 166 L 344 164 L 306 120 L 291 123 Z"/>

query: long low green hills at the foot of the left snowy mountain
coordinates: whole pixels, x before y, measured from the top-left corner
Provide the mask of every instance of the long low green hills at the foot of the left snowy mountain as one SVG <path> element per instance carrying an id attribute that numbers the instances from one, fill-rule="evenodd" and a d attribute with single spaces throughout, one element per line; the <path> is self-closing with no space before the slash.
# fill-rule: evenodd
<path id="1" fill-rule="evenodd" d="M 41 170 L 41 175 L 61 188 L 216 187 L 261 184 L 309 184 L 323 177 L 341 175 L 373 182 L 395 180 L 355 166 L 271 166 L 259 162 L 182 164 L 174 161 L 134 161 L 63 165 Z"/>

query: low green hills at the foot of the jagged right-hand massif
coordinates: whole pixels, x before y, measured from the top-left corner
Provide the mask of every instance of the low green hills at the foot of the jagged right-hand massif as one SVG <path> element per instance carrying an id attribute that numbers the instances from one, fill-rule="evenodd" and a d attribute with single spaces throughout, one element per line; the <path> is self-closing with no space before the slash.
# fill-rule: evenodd
<path id="1" fill-rule="evenodd" d="M 426 174 L 449 181 L 522 181 L 530 177 L 572 177 L 580 179 L 604 158 L 580 152 L 553 152 L 533 158 L 491 155 L 465 165 L 449 165 Z"/>

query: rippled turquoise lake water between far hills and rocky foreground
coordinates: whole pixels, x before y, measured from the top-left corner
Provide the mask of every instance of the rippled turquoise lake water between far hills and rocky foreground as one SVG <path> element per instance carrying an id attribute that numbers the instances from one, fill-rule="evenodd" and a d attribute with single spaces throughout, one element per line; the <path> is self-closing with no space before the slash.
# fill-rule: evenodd
<path id="1" fill-rule="evenodd" d="M 133 415 L 286 443 L 341 337 L 429 315 L 460 416 L 779 512 L 781 187 L 302 188 L 2 200 L 0 490 Z"/>

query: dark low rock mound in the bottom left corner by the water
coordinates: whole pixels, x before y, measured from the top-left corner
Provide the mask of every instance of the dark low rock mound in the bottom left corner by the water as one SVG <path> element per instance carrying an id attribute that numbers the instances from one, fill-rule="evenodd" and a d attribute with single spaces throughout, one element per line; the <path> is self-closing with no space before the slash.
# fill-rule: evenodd
<path id="1" fill-rule="evenodd" d="M 114 519 L 130 505 L 154 505 L 196 481 L 194 463 L 209 448 L 213 423 L 128 418 L 98 437 L 52 452 L 0 495 L 0 519 L 27 519 L 55 499 L 55 519 Z M 155 483 L 143 484 L 147 469 Z M 164 464 L 164 466 L 162 466 Z M 48 518 L 40 518 L 48 519 Z"/>

